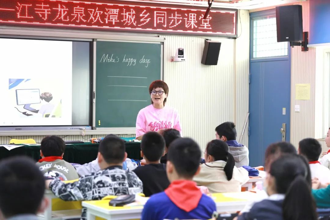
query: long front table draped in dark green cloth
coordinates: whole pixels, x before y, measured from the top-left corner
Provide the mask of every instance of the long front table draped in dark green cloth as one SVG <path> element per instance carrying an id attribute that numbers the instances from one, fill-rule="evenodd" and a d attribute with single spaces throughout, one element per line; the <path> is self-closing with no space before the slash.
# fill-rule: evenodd
<path id="1" fill-rule="evenodd" d="M 63 159 L 69 163 L 89 163 L 97 157 L 98 146 L 98 143 L 90 142 L 66 144 Z M 125 146 L 128 158 L 141 159 L 139 142 L 125 142 Z M 12 150 L 0 147 L 0 159 L 16 155 L 27 155 L 38 161 L 40 159 L 40 145 L 21 146 Z"/>

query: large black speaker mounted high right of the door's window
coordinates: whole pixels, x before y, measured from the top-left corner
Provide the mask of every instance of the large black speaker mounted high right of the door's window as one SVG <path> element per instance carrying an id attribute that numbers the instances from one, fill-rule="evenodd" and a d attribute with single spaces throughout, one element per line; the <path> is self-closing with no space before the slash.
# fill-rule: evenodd
<path id="1" fill-rule="evenodd" d="M 303 41 L 303 8 L 301 5 L 276 7 L 277 42 Z"/>

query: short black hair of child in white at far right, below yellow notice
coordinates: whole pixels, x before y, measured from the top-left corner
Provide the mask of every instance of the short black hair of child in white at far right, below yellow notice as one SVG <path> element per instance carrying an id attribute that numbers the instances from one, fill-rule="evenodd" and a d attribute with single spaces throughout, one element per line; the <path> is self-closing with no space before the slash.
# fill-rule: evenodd
<path id="1" fill-rule="evenodd" d="M 314 138 L 305 138 L 299 141 L 299 152 L 308 161 L 317 161 L 322 152 L 321 144 Z"/>

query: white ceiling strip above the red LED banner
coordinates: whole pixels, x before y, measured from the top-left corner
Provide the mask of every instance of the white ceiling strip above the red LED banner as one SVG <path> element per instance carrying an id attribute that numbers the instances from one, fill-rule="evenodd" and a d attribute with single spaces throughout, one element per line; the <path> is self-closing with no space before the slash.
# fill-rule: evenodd
<path id="1" fill-rule="evenodd" d="M 127 0 L 126 0 L 127 1 Z M 130 0 L 134 2 L 152 2 L 175 5 L 208 6 L 208 0 Z M 306 0 L 214 0 L 212 8 L 229 8 L 240 10 L 252 10 L 272 7 L 283 4 L 303 2 Z"/>

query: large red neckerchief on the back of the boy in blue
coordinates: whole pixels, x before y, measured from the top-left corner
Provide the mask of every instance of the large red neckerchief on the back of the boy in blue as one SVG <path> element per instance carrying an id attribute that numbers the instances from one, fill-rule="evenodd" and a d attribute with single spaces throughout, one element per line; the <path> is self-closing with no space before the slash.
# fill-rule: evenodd
<path id="1" fill-rule="evenodd" d="M 165 194 L 182 210 L 189 212 L 198 206 L 202 192 L 196 183 L 189 180 L 175 180 L 165 189 Z"/>

